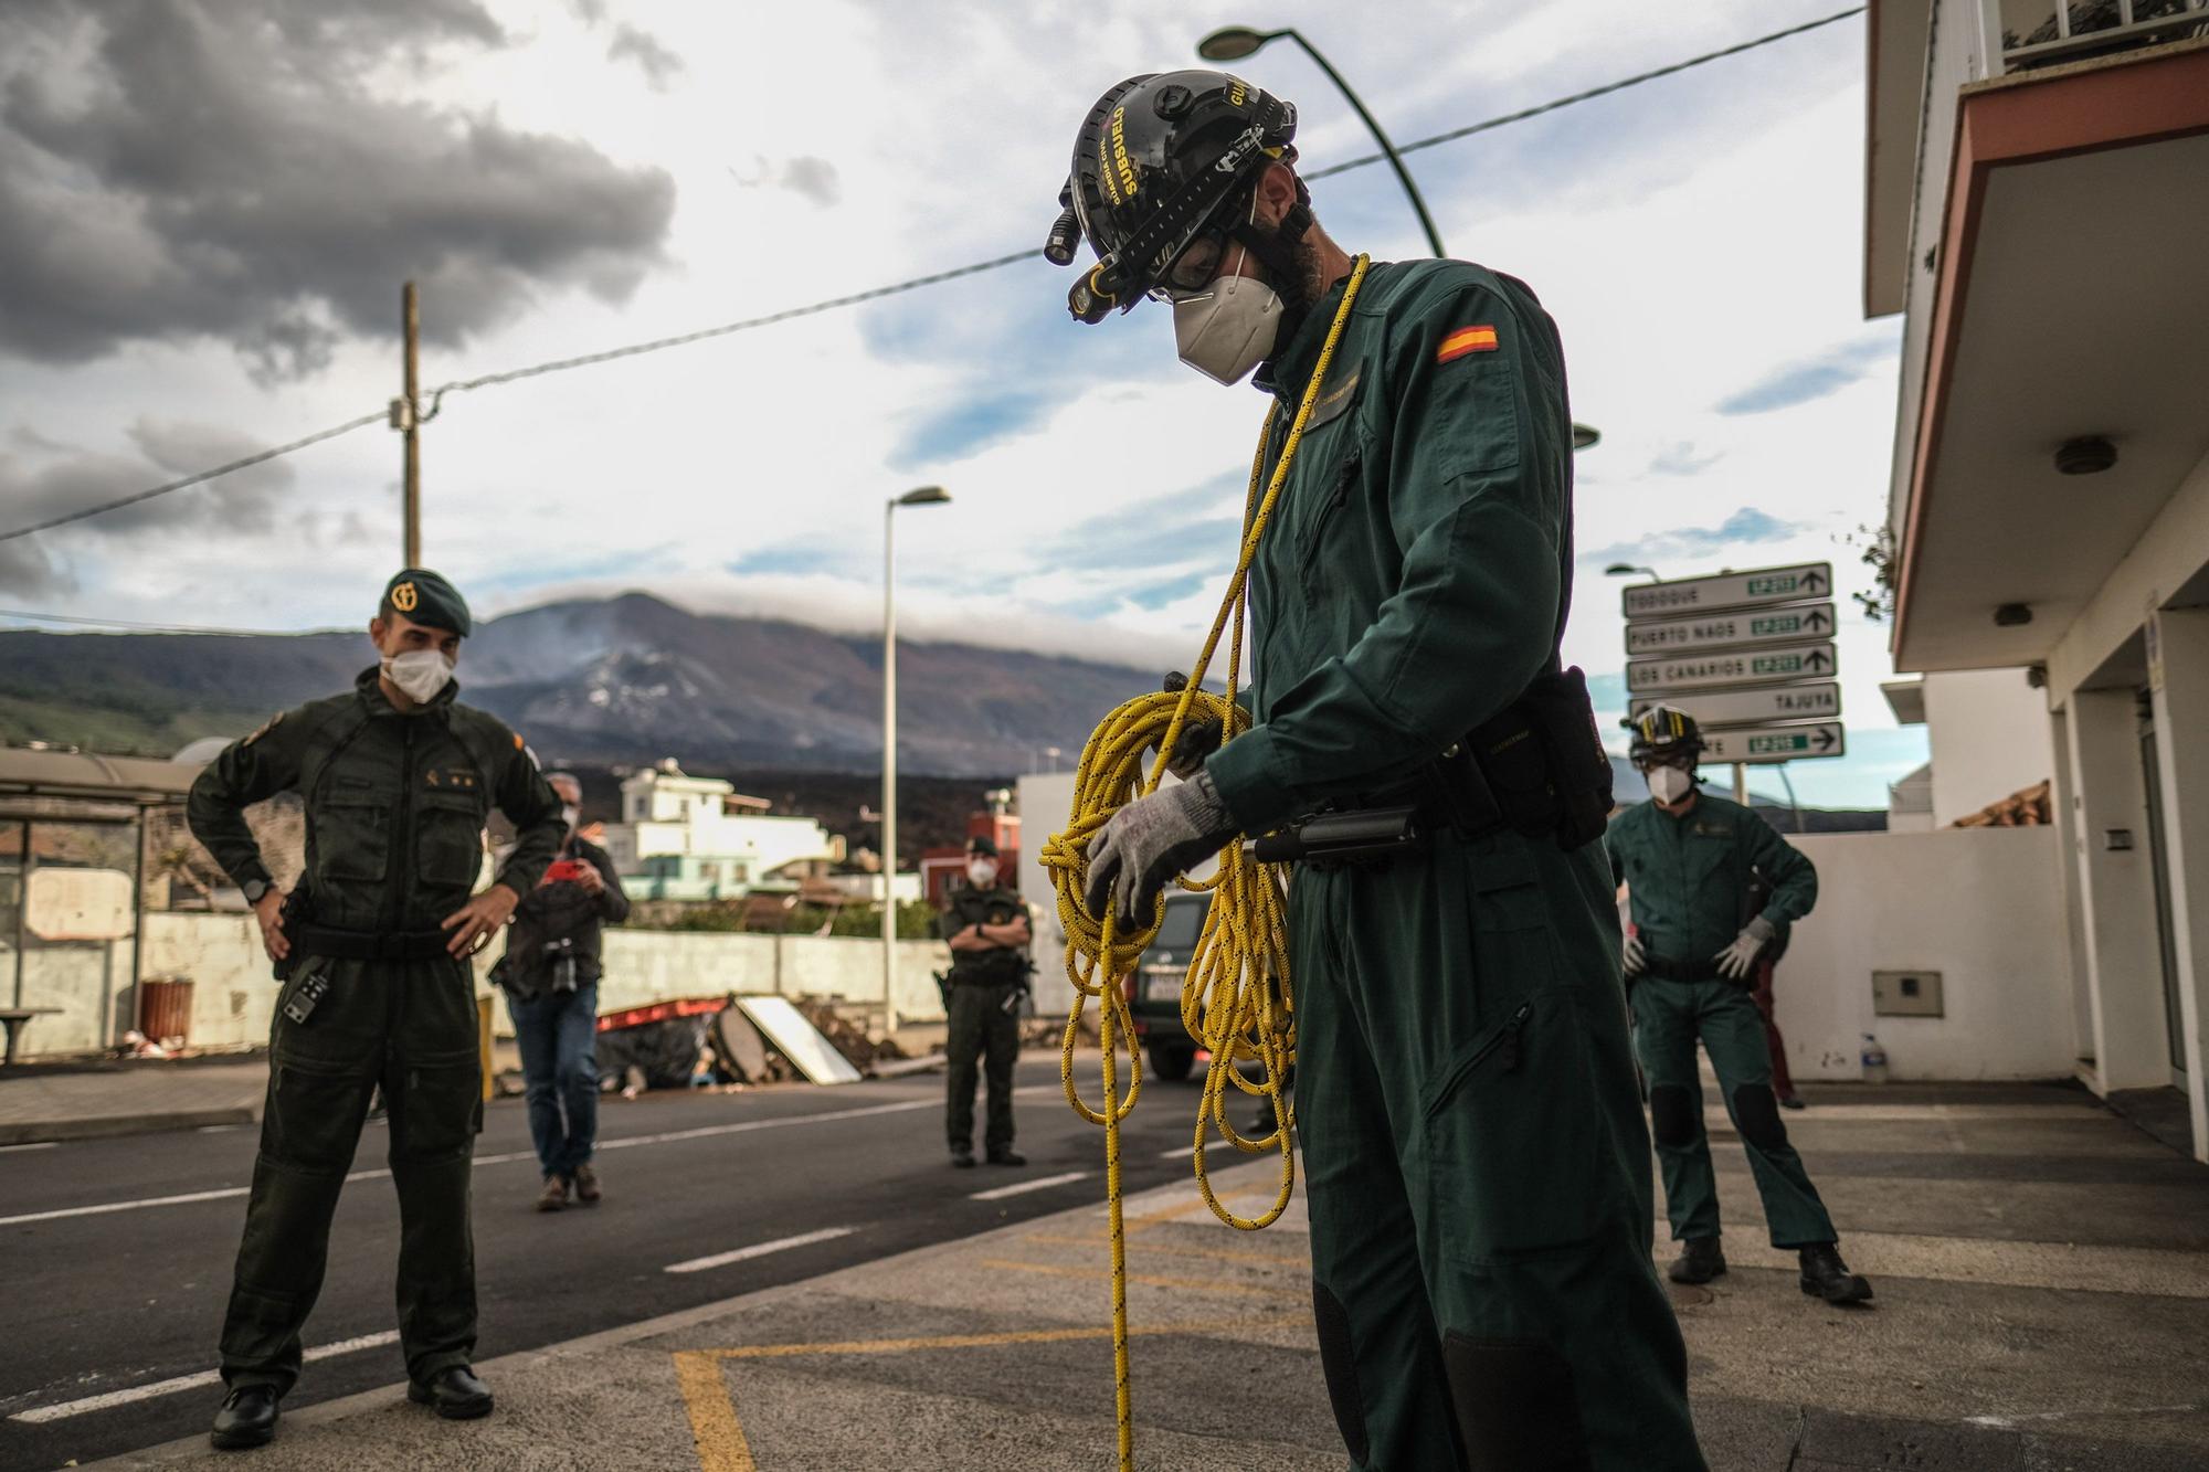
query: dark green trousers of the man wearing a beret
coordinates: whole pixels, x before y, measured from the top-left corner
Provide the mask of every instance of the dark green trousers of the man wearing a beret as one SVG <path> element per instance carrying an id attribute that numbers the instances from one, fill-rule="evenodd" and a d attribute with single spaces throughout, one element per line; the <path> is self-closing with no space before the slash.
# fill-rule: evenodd
<path id="1" fill-rule="evenodd" d="M 466 964 L 309 957 L 329 990 L 305 1023 L 276 1008 L 261 1158 L 223 1317 L 223 1381 L 298 1379 L 300 1331 L 323 1291 L 329 1218 L 353 1167 L 369 1096 L 384 1087 L 400 1194 L 400 1346 L 413 1379 L 475 1359 L 468 1171 L 484 1116 L 475 981 Z"/>

